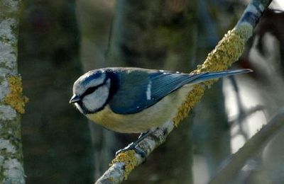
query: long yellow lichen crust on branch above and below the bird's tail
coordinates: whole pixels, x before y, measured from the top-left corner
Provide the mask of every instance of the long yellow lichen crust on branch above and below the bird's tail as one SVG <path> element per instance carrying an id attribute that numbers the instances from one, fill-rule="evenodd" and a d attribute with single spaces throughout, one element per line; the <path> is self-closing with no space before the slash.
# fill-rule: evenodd
<path id="1" fill-rule="evenodd" d="M 231 64 L 236 62 L 244 51 L 246 40 L 252 34 L 252 28 L 249 25 L 241 25 L 238 28 L 229 30 L 224 38 L 219 41 L 218 45 L 207 56 L 207 59 L 202 65 L 198 65 L 192 74 L 199 74 L 207 71 L 223 71 L 228 69 Z M 205 87 L 211 86 L 217 80 L 204 81 L 202 84 L 197 84 L 190 91 L 187 100 L 178 109 L 177 115 L 173 118 L 175 126 L 178 126 L 181 120 L 187 117 L 188 112 L 202 98 Z"/>

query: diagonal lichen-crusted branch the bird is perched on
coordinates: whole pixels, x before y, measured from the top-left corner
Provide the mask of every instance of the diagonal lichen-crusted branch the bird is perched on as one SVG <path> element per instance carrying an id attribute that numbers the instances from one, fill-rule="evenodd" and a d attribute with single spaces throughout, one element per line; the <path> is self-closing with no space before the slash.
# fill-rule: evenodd
<path id="1" fill-rule="evenodd" d="M 247 6 L 234 29 L 229 30 L 224 35 L 224 38 L 218 43 L 217 47 L 208 54 L 204 64 L 197 66 L 197 69 L 192 71 L 192 73 L 222 71 L 236 62 L 244 51 L 246 41 L 251 37 L 258 19 L 270 3 L 271 0 L 253 0 Z M 163 126 L 158 127 L 157 130 L 149 134 L 146 139 L 143 139 L 137 145 L 138 148 L 145 151 L 146 156 L 148 156 L 156 147 L 165 142 L 166 137 L 173 130 L 173 127 L 178 126 L 179 122 L 187 116 L 188 112 L 202 98 L 204 90 L 212 84 L 214 84 L 214 81 L 197 84 L 190 91 L 187 100 L 179 108 L 178 114 L 173 121 L 165 122 Z M 111 167 L 96 183 L 121 183 L 124 179 L 127 179 L 133 168 L 143 163 L 143 161 L 145 161 L 145 158 L 141 158 L 133 150 L 121 153 L 116 156 L 111 163 Z"/>

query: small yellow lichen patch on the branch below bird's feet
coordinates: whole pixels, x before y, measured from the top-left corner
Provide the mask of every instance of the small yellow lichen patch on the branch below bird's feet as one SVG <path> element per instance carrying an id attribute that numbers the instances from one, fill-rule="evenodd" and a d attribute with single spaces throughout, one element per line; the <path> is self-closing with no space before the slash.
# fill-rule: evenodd
<path id="1" fill-rule="evenodd" d="M 122 152 L 119 155 L 117 155 L 115 159 L 111 161 L 110 165 L 117 163 L 117 162 L 125 163 L 124 178 L 127 179 L 129 176 L 129 173 L 131 173 L 133 168 L 138 166 L 138 160 L 135 154 L 136 152 L 134 150 Z"/>

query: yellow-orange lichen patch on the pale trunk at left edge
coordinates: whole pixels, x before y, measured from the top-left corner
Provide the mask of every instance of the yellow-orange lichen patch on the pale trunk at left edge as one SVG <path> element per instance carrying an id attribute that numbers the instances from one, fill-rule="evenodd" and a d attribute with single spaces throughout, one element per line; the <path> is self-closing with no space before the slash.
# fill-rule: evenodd
<path id="1" fill-rule="evenodd" d="M 25 113 L 25 105 L 28 103 L 28 98 L 23 96 L 22 81 L 20 76 L 9 76 L 10 93 L 4 98 L 4 103 L 11 105 L 18 113 Z"/>

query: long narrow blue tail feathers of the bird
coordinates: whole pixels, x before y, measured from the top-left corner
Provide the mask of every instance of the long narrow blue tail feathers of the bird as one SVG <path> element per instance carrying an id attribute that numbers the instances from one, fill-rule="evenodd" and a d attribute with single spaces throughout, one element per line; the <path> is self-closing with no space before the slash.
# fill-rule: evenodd
<path id="1" fill-rule="evenodd" d="M 232 76 L 236 74 L 246 74 L 252 71 L 253 70 L 251 69 L 233 69 L 233 70 L 217 71 L 217 72 L 210 72 L 210 73 L 208 72 L 208 73 L 201 74 L 199 77 L 194 79 L 191 83 L 196 84 L 196 83 L 200 83 L 203 81 L 222 78 L 225 76 Z"/>

